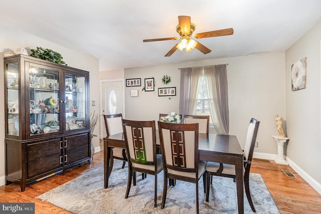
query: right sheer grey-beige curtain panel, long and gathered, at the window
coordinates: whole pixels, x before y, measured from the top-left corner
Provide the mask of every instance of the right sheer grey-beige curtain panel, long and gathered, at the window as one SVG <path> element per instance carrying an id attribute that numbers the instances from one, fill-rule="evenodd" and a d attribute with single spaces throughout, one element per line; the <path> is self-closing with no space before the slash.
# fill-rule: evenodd
<path id="1" fill-rule="evenodd" d="M 226 65 L 207 66 L 204 68 L 204 75 L 214 129 L 218 134 L 228 134 L 229 105 Z"/>

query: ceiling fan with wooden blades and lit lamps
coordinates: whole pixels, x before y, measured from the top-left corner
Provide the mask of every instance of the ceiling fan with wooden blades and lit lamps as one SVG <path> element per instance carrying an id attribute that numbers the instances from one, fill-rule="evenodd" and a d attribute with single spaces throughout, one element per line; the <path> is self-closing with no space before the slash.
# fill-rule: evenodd
<path id="1" fill-rule="evenodd" d="M 220 37 L 220 36 L 227 36 L 232 35 L 234 33 L 233 28 L 222 29 L 217 31 L 209 31 L 204 33 L 196 34 L 192 37 L 193 32 L 195 31 L 195 25 L 191 23 L 191 17 L 188 16 L 179 16 L 179 24 L 176 27 L 177 33 L 180 35 L 179 38 L 177 37 L 170 37 L 170 38 L 161 38 L 161 39 L 149 39 L 143 40 L 143 42 L 155 42 L 155 41 L 164 41 L 164 40 L 180 40 L 181 42 L 176 44 L 166 55 L 165 57 L 170 57 L 177 49 L 183 51 L 185 48 L 186 52 L 192 51 L 194 48 L 202 52 L 203 54 L 208 54 L 211 52 L 210 49 L 205 47 L 199 42 L 192 40 L 191 38 L 202 39 L 208 37 Z"/>

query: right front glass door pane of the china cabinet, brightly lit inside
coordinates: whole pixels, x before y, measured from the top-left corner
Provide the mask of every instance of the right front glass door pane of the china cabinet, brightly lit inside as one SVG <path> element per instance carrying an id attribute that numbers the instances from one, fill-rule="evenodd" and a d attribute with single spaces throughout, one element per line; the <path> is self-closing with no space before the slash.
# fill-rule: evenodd
<path id="1" fill-rule="evenodd" d="M 65 74 L 66 131 L 87 127 L 85 80 L 81 75 Z"/>

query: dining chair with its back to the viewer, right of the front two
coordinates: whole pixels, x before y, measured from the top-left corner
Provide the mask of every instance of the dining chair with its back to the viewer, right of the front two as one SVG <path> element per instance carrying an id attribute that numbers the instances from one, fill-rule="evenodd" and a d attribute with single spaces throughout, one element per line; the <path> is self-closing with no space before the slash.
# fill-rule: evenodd
<path id="1" fill-rule="evenodd" d="M 199 213 L 199 179 L 203 175 L 204 193 L 206 161 L 199 160 L 199 125 L 158 121 L 159 140 L 164 167 L 164 208 L 168 179 L 182 180 L 196 185 L 196 210 Z"/>

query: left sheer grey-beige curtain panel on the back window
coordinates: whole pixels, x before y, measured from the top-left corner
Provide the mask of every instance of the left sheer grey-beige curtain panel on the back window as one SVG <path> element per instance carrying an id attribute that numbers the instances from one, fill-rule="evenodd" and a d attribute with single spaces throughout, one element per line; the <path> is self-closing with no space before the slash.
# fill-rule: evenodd
<path id="1" fill-rule="evenodd" d="M 181 69 L 180 114 L 193 114 L 197 104 L 197 90 L 203 68 Z"/>

